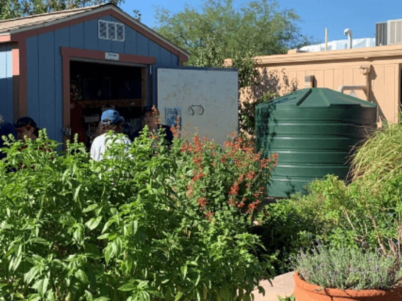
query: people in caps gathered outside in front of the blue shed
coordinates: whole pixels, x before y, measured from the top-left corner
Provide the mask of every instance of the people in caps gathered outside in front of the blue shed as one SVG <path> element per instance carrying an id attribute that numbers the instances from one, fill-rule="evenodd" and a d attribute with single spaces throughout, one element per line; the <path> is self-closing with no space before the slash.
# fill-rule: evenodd
<path id="1" fill-rule="evenodd" d="M 163 129 L 166 134 L 166 142 L 170 145 L 173 140 L 173 134 L 171 129 L 168 126 L 161 125 L 158 123 L 156 114 L 158 111 L 154 107 L 144 107 L 142 111 L 142 119 L 144 126 L 147 125 L 148 132 L 151 134 L 157 134 L 158 131 Z M 108 144 L 112 141 L 114 143 L 123 143 L 129 145 L 140 135 L 140 132 L 144 130 L 144 126 L 142 129 L 138 131 L 134 131 L 130 135 L 130 137 L 123 136 L 123 138 L 113 139 L 111 136 L 108 136 L 108 133 L 112 132 L 113 134 L 121 134 L 122 133 L 122 123 L 125 121 L 123 117 L 120 116 L 119 112 L 116 110 L 105 110 L 101 116 L 101 121 L 98 125 L 98 136 L 93 140 L 91 145 L 91 158 L 93 160 L 102 160 L 103 154 L 105 153 Z M 38 138 L 40 128 L 38 124 L 30 118 L 30 117 L 22 117 L 18 119 L 15 124 L 11 124 L 9 122 L 4 121 L 0 117 L 0 148 L 4 147 L 4 140 L 1 136 L 8 136 L 12 134 L 15 138 L 18 138 L 22 141 L 26 139 L 35 140 Z M 83 142 L 83 138 L 80 136 L 85 135 L 84 133 L 76 132 L 79 135 L 79 142 Z M 0 152 L 0 160 L 4 158 L 4 153 Z"/>

